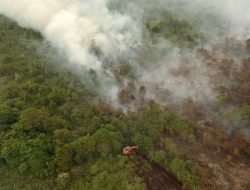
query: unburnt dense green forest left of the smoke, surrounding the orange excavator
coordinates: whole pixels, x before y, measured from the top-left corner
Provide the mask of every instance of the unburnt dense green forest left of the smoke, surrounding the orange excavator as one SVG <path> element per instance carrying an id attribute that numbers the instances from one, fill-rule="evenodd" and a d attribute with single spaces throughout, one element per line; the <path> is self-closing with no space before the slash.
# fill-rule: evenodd
<path id="1" fill-rule="evenodd" d="M 121 156 L 138 144 L 181 181 L 200 188 L 193 164 L 171 138 L 188 139 L 190 122 L 151 103 L 140 112 L 107 112 L 67 69 L 38 52 L 42 37 L 0 17 L 1 189 L 144 189 Z M 112 110 L 112 109 L 111 109 Z"/>

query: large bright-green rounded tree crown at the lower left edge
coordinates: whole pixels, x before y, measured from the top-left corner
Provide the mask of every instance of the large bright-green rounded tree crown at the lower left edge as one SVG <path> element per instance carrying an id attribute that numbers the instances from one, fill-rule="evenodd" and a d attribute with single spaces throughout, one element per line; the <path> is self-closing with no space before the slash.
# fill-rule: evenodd
<path id="1" fill-rule="evenodd" d="M 45 134 L 29 138 L 25 134 L 3 142 L 1 156 L 6 163 L 17 167 L 22 174 L 43 177 L 53 170 L 53 146 Z"/>

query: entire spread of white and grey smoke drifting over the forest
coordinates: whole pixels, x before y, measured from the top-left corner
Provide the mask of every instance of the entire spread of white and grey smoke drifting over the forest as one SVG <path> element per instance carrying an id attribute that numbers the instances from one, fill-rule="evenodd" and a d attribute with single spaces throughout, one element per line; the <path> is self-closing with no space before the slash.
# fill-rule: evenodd
<path id="1" fill-rule="evenodd" d="M 223 36 L 249 37 L 249 0 L 0 0 L 0 14 L 39 31 L 70 67 L 93 70 L 98 85 L 90 87 L 115 105 L 130 80 L 117 80 L 114 70 L 121 62 L 133 67 L 134 85 L 145 86 L 149 98 L 164 101 L 155 90 L 159 87 L 176 101 L 213 99 L 207 67 L 194 51 L 183 52 L 167 40 L 148 40 L 143 19 L 159 10 L 196 25 L 207 38 L 202 46 Z M 89 77 L 88 72 L 82 75 Z"/>

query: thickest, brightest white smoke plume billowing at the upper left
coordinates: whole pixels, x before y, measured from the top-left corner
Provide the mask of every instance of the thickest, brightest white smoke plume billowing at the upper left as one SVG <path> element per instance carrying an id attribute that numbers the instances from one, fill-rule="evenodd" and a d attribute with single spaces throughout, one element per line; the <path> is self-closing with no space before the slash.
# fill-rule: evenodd
<path id="1" fill-rule="evenodd" d="M 111 12 L 107 0 L 1 0 L 0 14 L 39 31 L 70 63 L 100 69 L 91 41 L 105 56 L 129 55 L 140 29 L 129 15 Z"/>

